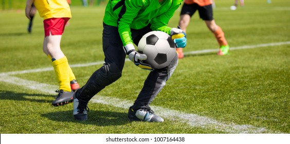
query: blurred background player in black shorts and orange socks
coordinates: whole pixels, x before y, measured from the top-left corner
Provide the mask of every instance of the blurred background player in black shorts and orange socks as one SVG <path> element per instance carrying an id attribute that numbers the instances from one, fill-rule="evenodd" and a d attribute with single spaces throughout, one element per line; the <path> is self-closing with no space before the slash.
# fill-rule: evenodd
<path id="1" fill-rule="evenodd" d="M 184 5 L 180 13 L 179 26 L 186 32 L 186 28 L 189 25 L 191 16 L 198 10 L 201 19 L 203 19 L 209 28 L 209 30 L 214 34 L 216 40 L 220 45 L 218 55 L 227 55 L 229 51 L 229 45 L 226 41 L 224 32 L 222 28 L 215 24 L 213 20 L 212 12 L 212 0 L 184 0 Z M 176 48 L 178 58 L 184 58 L 183 49 Z"/>

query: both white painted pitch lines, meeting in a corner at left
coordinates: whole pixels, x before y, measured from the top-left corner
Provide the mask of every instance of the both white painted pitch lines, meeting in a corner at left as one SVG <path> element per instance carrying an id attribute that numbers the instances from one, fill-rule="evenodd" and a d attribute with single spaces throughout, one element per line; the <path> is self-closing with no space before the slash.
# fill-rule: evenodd
<path id="1" fill-rule="evenodd" d="M 261 44 L 261 45 L 254 45 L 254 46 L 241 46 L 241 47 L 232 47 L 231 50 L 235 49 L 246 49 L 246 48 L 258 48 L 258 47 L 265 47 L 265 46 L 276 46 L 276 45 L 285 45 L 290 44 L 290 42 L 280 42 L 280 43 L 269 43 L 269 44 Z M 205 53 L 205 52 L 213 52 L 216 50 L 203 50 L 201 51 L 192 51 L 187 53 Z M 126 61 L 129 61 L 128 59 Z M 87 63 L 87 64 L 75 64 L 71 65 L 71 67 L 84 67 L 84 66 L 92 66 L 102 64 L 103 62 L 95 62 L 95 63 Z M 30 70 L 22 70 L 22 71 L 11 71 L 8 73 L 1 73 L 0 74 L 0 81 L 20 85 L 29 89 L 34 89 L 46 94 L 55 94 L 56 85 L 49 85 L 45 83 L 39 83 L 36 81 L 24 80 L 21 78 L 13 77 L 11 75 L 16 74 L 25 74 L 25 73 L 37 73 L 41 71 L 49 71 L 53 70 L 52 68 L 39 68 L 39 69 L 30 69 Z M 133 102 L 128 100 L 122 100 L 114 97 L 104 97 L 104 96 L 95 96 L 92 99 L 92 102 L 95 103 L 102 103 L 108 104 L 116 107 L 120 107 L 122 109 L 128 109 L 129 106 L 132 105 Z M 151 106 L 155 112 L 170 120 L 176 120 L 180 122 L 185 122 L 191 125 L 192 127 L 200 127 L 205 129 L 212 129 L 216 131 L 222 131 L 225 133 L 280 133 L 280 132 L 273 132 L 270 130 L 266 130 L 265 128 L 257 128 L 252 125 L 244 124 L 234 124 L 234 123 L 223 123 L 212 118 L 208 118 L 205 116 L 198 116 L 196 114 L 188 114 L 176 110 L 170 110 L 161 106 Z"/>

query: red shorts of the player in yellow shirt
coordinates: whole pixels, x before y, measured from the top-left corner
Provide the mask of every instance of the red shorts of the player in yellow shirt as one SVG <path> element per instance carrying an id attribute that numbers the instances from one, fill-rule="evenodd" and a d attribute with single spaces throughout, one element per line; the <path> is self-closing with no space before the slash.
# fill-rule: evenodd
<path id="1" fill-rule="evenodd" d="M 51 18 L 43 21 L 45 37 L 51 35 L 62 35 L 65 24 L 68 22 L 69 17 Z"/>

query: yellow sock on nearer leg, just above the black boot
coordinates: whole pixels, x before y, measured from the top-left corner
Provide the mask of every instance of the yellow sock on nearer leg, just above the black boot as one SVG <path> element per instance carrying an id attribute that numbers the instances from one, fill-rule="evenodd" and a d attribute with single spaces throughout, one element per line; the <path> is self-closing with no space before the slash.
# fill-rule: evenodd
<path id="1" fill-rule="evenodd" d="M 67 58 L 64 56 L 63 58 L 57 59 L 52 62 L 52 66 L 55 69 L 55 73 L 57 76 L 57 80 L 60 88 L 65 92 L 70 92 L 70 80 L 69 80 L 69 65 L 67 62 Z"/>

